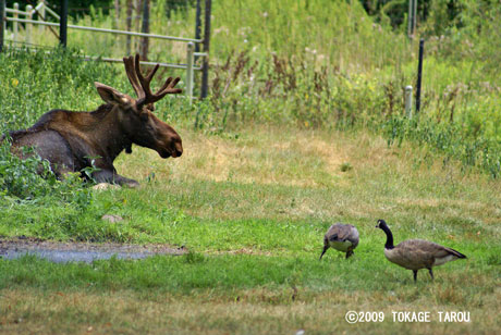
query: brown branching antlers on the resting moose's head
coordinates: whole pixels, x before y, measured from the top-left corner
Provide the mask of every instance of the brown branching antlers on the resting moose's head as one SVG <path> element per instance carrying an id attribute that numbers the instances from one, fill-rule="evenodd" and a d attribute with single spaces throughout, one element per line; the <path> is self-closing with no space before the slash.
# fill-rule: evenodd
<path id="1" fill-rule="evenodd" d="M 150 104 L 152 107 L 152 103 L 162 99 L 166 95 L 175 95 L 182 92 L 181 88 L 174 88 L 181 79 L 180 77 L 176 77 L 175 79 L 169 77 L 163 86 L 157 90 L 155 95 L 151 92 L 149 85 L 151 83 L 151 78 L 160 66 L 159 64 L 155 65 L 155 67 L 145 77 L 140 73 L 139 54 L 136 54 L 135 60 L 132 55 L 124 57 L 123 63 L 125 65 L 125 72 L 127 74 L 129 82 L 131 82 L 131 85 L 137 95 L 137 107 L 140 108 L 145 104 Z"/>

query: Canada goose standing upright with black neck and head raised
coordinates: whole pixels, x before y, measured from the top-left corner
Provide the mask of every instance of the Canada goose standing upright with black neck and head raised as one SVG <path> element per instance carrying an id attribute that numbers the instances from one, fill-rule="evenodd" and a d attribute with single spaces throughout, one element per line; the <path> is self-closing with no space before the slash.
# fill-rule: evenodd
<path id="1" fill-rule="evenodd" d="M 407 239 L 401 241 L 398 246 L 393 246 L 393 234 L 391 234 L 384 220 L 378 220 L 376 227 L 381 228 L 387 234 L 387 243 L 384 245 L 384 256 L 387 259 L 392 263 L 412 270 L 414 282 L 417 281 L 417 271 L 419 269 L 428 269 L 433 280 L 432 266 L 442 265 L 460 258 L 466 258 L 466 256 L 454 249 L 442 247 L 424 239 Z"/>

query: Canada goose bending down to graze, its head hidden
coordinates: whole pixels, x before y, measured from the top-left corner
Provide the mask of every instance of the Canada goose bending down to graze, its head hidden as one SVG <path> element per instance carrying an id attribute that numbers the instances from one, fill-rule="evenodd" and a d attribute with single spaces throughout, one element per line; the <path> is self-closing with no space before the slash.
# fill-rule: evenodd
<path id="1" fill-rule="evenodd" d="M 330 226 L 323 236 L 323 250 L 320 260 L 329 247 L 346 252 L 346 258 L 353 255 L 358 245 L 358 231 L 351 224 L 337 223 Z"/>

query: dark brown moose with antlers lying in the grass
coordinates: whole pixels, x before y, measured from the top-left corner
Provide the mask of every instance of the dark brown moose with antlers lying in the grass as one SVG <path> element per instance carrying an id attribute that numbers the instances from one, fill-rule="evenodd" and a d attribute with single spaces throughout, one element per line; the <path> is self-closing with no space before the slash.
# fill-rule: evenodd
<path id="1" fill-rule="evenodd" d="M 180 135 L 152 113 L 155 102 L 182 91 L 175 88 L 180 78 L 169 77 L 152 94 L 150 83 L 159 64 L 144 76 L 138 54 L 135 59 L 123 58 L 123 63 L 137 99 L 95 82 L 106 103 L 93 112 L 58 109 L 45 113 L 32 127 L 10 133 L 11 152 L 24 157 L 22 148 L 33 147 L 42 160 L 49 161 L 58 178 L 69 172 L 94 167 L 91 178 L 97 183 L 130 187 L 139 183 L 119 175 L 113 161 L 123 150 L 131 153 L 133 144 L 156 150 L 163 159 L 180 157 L 183 153 Z M 86 177 L 84 173 L 82 176 Z"/>

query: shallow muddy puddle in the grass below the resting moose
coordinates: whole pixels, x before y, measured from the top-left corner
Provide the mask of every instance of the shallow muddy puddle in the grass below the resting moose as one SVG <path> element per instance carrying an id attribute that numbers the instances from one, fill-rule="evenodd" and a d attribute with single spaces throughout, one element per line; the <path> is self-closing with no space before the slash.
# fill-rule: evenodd
<path id="1" fill-rule="evenodd" d="M 54 243 L 28 238 L 0 239 L 0 259 L 8 260 L 30 255 L 56 263 L 91 263 L 112 257 L 121 260 L 140 260 L 156 255 L 180 256 L 185 252 L 183 247 L 173 248 L 167 245 Z"/>

